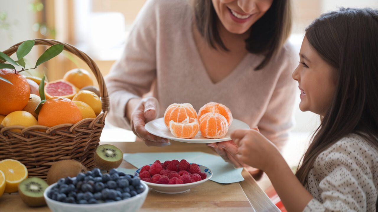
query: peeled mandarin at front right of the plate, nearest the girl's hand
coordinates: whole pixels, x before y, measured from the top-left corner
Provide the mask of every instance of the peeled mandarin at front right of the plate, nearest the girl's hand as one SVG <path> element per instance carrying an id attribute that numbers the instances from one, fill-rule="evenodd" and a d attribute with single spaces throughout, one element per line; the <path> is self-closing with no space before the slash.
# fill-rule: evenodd
<path id="1" fill-rule="evenodd" d="M 227 120 L 219 113 L 205 113 L 199 122 L 201 134 L 205 138 L 223 138 L 228 131 Z"/>

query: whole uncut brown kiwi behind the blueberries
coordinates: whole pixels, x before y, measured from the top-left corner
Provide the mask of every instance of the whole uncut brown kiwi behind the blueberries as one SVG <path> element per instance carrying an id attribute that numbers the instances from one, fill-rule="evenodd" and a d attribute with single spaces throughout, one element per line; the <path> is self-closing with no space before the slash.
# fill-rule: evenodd
<path id="1" fill-rule="evenodd" d="M 55 162 L 47 172 L 47 183 L 56 183 L 60 178 L 74 177 L 80 172 L 87 172 L 87 168 L 79 161 L 62 160 Z"/>

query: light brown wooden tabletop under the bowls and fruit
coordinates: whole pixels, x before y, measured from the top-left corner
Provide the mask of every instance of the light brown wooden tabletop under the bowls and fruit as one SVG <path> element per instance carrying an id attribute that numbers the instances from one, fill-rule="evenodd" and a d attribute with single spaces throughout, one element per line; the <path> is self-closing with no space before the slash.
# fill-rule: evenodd
<path id="1" fill-rule="evenodd" d="M 146 147 L 143 142 L 100 142 L 113 144 L 124 153 L 137 152 L 214 152 L 204 144 L 189 144 L 171 141 L 167 147 Z M 135 168 L 126 161 L 121 167 Z M 163 194 L 150 190 L 141 212 L 144 211 L 267 211 L 280 210 L 257 185 L 254 178 L 243 170 L 244 181 L 231 184 L 219 184 L 211 180 L 181 194 Z M 0 212 L 47 212 L 47 206 L 32 208 L 26 206 L 18 193 L 4 194 L 0 198 Z"/>

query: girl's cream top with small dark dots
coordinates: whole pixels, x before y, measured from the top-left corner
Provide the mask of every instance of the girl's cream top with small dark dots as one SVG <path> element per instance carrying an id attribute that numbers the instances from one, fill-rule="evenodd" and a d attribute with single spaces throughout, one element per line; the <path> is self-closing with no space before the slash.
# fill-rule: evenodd
<path id="1" fill-rule="evenodd" d="M 304 211 L 377 211 L 378 149 L 351 134 L 322 152 L 308 173 Z"/>

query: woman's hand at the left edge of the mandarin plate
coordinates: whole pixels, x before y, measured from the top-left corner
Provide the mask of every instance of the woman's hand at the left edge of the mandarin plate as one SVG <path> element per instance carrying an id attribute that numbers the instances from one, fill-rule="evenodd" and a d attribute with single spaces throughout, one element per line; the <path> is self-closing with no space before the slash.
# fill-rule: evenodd
<path id="1" fill-rule="evenodd" d="M 131 130 L 141 138 L 147 146 L 166 146 L 168 139 L 160 138 L 147 132 L 144 128 L 147 122 L 158 116 L 159 102 L 154 97 L 130 99 L 126 107 L 126 116 L 130 120 Z M 131 115 L 130 115 L 131 113 Z"/>

